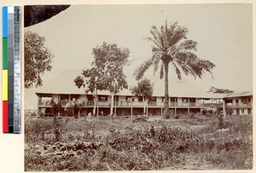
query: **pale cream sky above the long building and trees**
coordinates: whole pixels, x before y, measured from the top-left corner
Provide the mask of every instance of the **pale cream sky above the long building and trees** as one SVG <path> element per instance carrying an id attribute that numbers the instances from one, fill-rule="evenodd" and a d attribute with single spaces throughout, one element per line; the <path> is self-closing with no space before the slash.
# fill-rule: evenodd
<path id="1" fill-rule="evenodd" d="M 45 72 L 44 84 L 65 69 L 89 68 L 92 49 L 103 42 L 130 49 L 134 70 L 148 60 L 152 43 L 150 28 L 168 22 L 188 28 L 201 59 L 212 61 L 212 75 L 183 78 L 204 91 L 212 86 L 235 91 L 253 89 L 253 10 L 250 4 L 166 4 L 166 5 L 73 5 L 49 20 L 25 28 L 45 37 L 45 46 L 55 55 L 53 69 Z M 148 74 L 153 75 L 153 69 Z M 158 73 L 156 75 L 159 75 Z M 169 76 L 175 76 L 170 69 Z M 164 84 L 164 81 L 162 81 Z M 25 90 L 25 108 L 36 106 L 35 88 Z M 32 103 L 33 101 L 33 103 Z"/>

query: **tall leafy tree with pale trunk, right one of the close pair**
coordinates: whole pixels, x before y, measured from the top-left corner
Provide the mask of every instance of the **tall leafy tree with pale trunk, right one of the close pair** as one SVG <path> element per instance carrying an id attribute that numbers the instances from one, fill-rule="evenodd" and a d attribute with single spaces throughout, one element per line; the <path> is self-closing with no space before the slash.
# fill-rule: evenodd
<path id="1" fill-rule="evenodd" d="M 118 48 L 117 44 L 102 43 L 93 49 L 94 66 L 99 71 L 98 83 L 111 95 L 110 115 L 113 115 L 113 97 L 122 89 L 128 89 L 123 66 L 129 63 L 129 49 Z"/>

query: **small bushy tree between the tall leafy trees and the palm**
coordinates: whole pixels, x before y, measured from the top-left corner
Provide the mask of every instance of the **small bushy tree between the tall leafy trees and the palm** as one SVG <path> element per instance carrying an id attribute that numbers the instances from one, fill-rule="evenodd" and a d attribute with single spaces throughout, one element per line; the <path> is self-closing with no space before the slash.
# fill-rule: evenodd
<path id="1" fill-rule="evenodd" d="M 150 83 L 148 78 L 143 78 L 137 86 L 131 87 L 131 93 L 136 96 L 142 96 L 144 102 L 144 114 L 146 114 L 146 101 L 153 95 L 154 84 Z"/>

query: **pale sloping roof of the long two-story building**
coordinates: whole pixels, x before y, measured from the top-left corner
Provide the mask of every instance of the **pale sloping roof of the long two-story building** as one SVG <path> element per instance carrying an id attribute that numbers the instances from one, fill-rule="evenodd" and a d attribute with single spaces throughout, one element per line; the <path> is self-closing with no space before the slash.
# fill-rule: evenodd
<path id="1" fill-rule="evenodd" d="M 81 74 L 79 70 L 65 70 L 57 77 L 52 79 L 48 84 L 44 84 L 41 89 L 38 89 L 36 94 L 84 94 L 84 89 L 80 89 L 74 84 L 73 80 Z M 145 76 L 154 83 L 154 96 L 164 96 L 164 80 L 160 80 L 159 76 Z M 117 95 L 132 95 L 131 86 L 136 86 L 137 81 L 132 75 L 127 74 L 126 80 L 129 89 L 123 89 Z M 108 90 L 98 91 L 98 95 L 110 95 Z M 187 80 L 179 80 L 177 78 L 169 78 L 169 96 L 170 97 L 195 97 L 195 98 L 223 98 L 224 94 L 212 94 L 204 92 L 195 84 Z"/>

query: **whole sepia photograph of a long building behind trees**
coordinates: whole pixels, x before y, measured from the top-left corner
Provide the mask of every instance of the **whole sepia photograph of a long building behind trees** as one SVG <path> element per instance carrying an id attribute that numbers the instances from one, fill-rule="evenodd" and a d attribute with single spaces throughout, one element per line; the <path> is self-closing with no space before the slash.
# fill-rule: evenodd
<path id="1" fill-rule="evenodd" d="M 24 7 L 25 171 L 252 170 L 253 5 Z"/>

